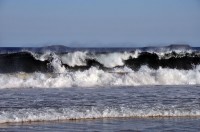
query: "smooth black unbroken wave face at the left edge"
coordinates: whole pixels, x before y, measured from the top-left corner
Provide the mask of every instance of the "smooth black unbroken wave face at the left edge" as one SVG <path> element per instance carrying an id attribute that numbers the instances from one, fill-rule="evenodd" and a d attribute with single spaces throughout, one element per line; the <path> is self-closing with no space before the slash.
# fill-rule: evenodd
<path id="1" fill-rule="evenodd" d="M 36 60 L 28 52 L 19 52 L 0 55 L 0 73 L 13 72 L 48 72 L 51 71 L 48 66 L 49 61 Z"/>

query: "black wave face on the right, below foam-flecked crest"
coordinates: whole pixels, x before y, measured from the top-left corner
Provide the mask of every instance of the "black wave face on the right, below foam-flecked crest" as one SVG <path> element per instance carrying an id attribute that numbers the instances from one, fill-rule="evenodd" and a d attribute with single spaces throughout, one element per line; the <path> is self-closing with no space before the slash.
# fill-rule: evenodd
<path id="1" fill-rule="evenodd" d="M 179 54 L 172 52 L 170 54 L 165 54 L 163 58 L 159 58 L 155 53 L 143 52 L 138 58 L 129 58 L 128 60 L 125 60 L 125 65 L 134 70 L 138 70 L 142 65 L 147 65 L 152 69 L 162 67 L 189 70 L 199 64 L 200 56 L 195 53 L 185 53 L 184 55 L 179 56 Z"/>

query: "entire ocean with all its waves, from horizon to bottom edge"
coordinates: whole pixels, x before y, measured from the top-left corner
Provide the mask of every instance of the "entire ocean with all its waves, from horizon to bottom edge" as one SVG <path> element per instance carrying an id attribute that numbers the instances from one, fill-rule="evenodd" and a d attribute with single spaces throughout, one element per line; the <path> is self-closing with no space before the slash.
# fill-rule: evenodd
<path id="1" fill-rule="evenodd" d="M 0 131 L 198 131 L 200 48 L 0 48 Z"/>

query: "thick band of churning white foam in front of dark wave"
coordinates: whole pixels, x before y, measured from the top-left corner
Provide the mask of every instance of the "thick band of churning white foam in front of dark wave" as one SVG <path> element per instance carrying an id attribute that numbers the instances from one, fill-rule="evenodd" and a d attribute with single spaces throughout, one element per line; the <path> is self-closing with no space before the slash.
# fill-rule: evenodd
<path id="1" fill-rule="evenodd" d="M 92 67 L 85 71 L 65 73 L 0 74 L 0 88 L 63 88 L 139 85 L 199 85 L 200 66 L 191 70 L 147 66 L 133 71 L 128 67 L 104 71 Z"/>

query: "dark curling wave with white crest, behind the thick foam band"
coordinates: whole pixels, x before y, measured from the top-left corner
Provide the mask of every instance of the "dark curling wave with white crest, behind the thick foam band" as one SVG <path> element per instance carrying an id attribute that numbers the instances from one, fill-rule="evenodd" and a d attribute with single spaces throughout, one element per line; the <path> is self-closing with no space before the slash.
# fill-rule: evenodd
<path id="1" fill-rule="evenodd" d="M 129 67 L 138 71 L 146 65 L 151 69 L 170 68 L 189 70 L 200 64 L 198 52 L 156 53 L 156 52 L 89 52 L 35 53 L 23 51 L 0 54 L 0 73 L 16 72 L 63 72 L 65 70 L 88 70 L 97 67 L 102 70 Z M 62 69 L 62 70 L 60 70 Z"/>

